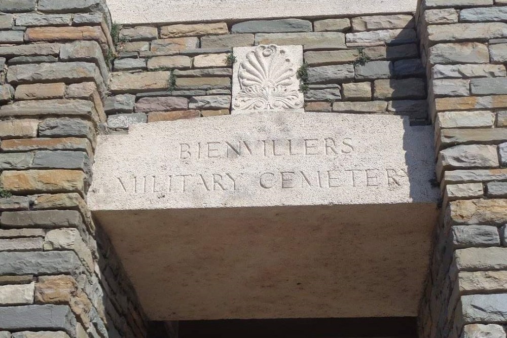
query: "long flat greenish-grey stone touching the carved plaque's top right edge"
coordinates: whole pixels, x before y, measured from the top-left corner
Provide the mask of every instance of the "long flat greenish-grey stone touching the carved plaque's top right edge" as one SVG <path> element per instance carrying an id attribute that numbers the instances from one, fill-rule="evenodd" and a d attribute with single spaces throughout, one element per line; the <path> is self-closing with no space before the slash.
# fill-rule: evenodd
<path id="1" fill-rule="evenodd" d="M 256 45 L 309 45 L 345 48 L 345 34 L 339 32 L 259 33 Z"/>

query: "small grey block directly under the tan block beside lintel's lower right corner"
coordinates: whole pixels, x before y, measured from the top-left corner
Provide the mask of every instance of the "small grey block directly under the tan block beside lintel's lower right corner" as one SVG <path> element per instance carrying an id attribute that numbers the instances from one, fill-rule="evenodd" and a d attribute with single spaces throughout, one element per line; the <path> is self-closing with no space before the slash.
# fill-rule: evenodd
<path id="1" fill-rule="evenodd" d="M 498 228 L 492 226 L 454 226 L 452 240 L 455 248 L 500 246 Z"/>

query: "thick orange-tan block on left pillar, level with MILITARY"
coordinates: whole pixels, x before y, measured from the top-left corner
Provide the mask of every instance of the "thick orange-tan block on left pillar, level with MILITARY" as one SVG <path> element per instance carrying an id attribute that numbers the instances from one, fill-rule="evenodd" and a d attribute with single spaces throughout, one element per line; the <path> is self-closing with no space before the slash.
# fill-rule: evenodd
<path id="1" fill-rule="evenodd" d="M 79 170 L 3 171 L 0 186 L 12 193 L 84 193 L 86 175 Z"/>

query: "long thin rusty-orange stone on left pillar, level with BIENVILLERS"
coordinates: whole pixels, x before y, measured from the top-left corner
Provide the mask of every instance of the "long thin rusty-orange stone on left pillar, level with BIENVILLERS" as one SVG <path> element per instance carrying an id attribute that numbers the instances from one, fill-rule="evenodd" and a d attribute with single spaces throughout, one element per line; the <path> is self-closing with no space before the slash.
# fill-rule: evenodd
<path id="1" fill-rule="evenodd" d="M 93 148 L 86 138 L 24 138 L 11 139 L 2 142 L 0 148 L 4 152 L 29 152 L 33 150 L 79 150 L 85 151 L 93 157 Z"/>

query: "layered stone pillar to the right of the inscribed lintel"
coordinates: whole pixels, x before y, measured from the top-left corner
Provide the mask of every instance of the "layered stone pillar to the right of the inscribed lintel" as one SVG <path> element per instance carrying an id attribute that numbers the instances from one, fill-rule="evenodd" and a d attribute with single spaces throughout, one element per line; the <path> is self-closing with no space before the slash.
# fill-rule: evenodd
<path id="1" fill-rule="evenodd" d="M 420 337 L 505 337 L 507 2 L 426 0 L 418 27 L 436 131 L 441 222 Z"/>

